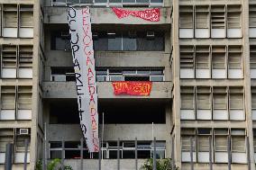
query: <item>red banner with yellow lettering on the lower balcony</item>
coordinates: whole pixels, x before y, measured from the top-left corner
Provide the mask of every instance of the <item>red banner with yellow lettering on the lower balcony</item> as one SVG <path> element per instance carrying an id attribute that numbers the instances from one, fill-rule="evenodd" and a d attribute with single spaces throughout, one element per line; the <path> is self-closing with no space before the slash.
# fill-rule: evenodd
<path id="1" fill-rule="evenodd" d="M 114 94 L 150 95 L 152 82 L 113 82 Z"/>

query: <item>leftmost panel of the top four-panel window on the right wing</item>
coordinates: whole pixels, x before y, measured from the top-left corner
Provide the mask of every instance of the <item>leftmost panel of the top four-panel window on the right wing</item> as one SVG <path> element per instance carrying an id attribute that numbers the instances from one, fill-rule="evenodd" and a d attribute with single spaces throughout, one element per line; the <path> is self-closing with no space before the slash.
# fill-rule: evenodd
<path id="1" fill-rule="evenodd" d="M 179 38 L 194 37 L 193 6 L 179 6 Z"/>

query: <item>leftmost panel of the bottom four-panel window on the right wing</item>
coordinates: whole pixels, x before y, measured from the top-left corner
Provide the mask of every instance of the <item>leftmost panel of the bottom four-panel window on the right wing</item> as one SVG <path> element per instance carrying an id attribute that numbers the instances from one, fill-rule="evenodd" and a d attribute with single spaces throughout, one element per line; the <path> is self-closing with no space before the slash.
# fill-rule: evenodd
<path id="1" fill-rule="evenodd" d="M 191 157 L 190 157 L 191 150 L 193 151 L 193 162 L 197 162 L 196 130 L 181 129 L 181 161 L 182 162 L 191 162 Z"/>

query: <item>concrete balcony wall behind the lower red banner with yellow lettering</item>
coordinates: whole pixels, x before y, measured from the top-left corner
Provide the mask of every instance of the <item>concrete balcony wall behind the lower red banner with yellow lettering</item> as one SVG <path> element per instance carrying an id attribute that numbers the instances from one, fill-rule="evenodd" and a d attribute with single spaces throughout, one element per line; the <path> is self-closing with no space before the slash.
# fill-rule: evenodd
<path id="1" fill-rule="evenodd" d="M 170 99 L 172 82 L 152 82 L 150 96 L 114 95 L 111 82 L 97 82 L 99 99 L 138 98 Z M 75 82 L 44 82 L 44 98 L 77 98 Z"/>

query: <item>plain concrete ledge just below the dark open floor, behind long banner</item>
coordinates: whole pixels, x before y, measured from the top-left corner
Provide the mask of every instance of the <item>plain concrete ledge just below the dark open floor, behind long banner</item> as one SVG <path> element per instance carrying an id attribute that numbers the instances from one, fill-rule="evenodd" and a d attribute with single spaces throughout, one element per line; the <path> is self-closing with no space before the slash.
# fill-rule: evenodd
<path id="1" fill-rule="evenodd" d="M 117 140 L 118 138 L 120 140 L 152 139 L 151 124 L 105 124 L 104 127 L 104 140 Z M 101 130 L 101 126 L 99 126 L 100 137 Z M 169 125 L 154 124 L 154 132 L 157 140 L 169 140 Z M 79 124 L 49 124 L 48 138 L 50 141 L 80 140 L 82 133 Z"/>

